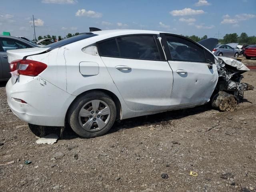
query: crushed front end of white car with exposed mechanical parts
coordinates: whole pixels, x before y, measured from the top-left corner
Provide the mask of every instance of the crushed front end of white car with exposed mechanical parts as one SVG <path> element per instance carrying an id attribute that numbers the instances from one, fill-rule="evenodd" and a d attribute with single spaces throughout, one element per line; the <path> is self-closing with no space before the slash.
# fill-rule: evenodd
<path id="1" fill-rule="evenodd" d="M 219 79 L 215 90 L 232 94 L 239 102 L 244 96 L 245 90 L 253 90 L 253 86 L 242 83 L 241 74 L 249 71 L 242 62 L 232 58 L 218 57 L 217 64 Z"/>

